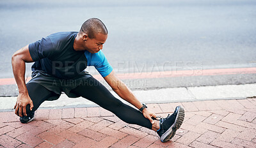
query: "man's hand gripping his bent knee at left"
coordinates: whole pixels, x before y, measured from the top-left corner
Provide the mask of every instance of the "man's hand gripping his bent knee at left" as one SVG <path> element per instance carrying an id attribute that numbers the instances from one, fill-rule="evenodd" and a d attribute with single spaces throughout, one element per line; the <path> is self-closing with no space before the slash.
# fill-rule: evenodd
<path id="1" fill-rule="evenodd" d="M 30 105 L 30 110 L 32 110 L 34 105 L 33 105 L 33 101 L 29 97 L 28 93 L 19 93 L 16 104 L 14 106 L 15 114 L 22 117 L 22 112 L 23 112 L 23 115 L 27 116 L 26 106 L 28 104 Z"/>

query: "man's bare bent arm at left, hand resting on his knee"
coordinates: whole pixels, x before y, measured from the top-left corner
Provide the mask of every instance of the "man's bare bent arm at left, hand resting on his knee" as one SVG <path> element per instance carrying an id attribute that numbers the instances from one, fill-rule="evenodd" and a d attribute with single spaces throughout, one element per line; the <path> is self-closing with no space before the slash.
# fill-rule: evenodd
<path id="1" fill-rule="evenodd" d="M 31 98 L 29 98 L 28 89 L 25 83 L 25 63 L 30 62 L 33 62 L 33 59 L 29 54 L 28 45 L 15 52 L 12 56 L 13 75 L 19 88 L 19 95 L 17 97 L 14 109 L 15 114 L 19 115 L 20 117 L 22 117 L 22 112 L 23 115 L 27 115 L 26 106 L 28 104 L 30 105 L 30 110 L 33 108 L 33 101 Z"/>

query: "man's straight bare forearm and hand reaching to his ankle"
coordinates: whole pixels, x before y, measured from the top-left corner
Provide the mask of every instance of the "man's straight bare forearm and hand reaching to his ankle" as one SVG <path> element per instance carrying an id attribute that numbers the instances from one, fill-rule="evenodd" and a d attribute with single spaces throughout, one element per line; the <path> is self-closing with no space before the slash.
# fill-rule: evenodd
<path id="1" fill-rule="evenodd" d="M 108 76 L 104 77 L 106 82 L 110 85 L 110 87 L 115 91 L 118 96 L 120 96 L 125 101 L 128 101 L 134 107 L 140 109 L 142 107 L 142 104 L 140 101 L 134 96 L 132 91 L 122 82 L 118 77 L 116 77 L 114 71 L 112 71 Z M 147 108 L 145 108 L 142 111 L 144 117 L 146 117 L 152 124 L 154 124 L 154 121 L 152 117 L 156 118 L 156 114 L 149 112 Z"/>

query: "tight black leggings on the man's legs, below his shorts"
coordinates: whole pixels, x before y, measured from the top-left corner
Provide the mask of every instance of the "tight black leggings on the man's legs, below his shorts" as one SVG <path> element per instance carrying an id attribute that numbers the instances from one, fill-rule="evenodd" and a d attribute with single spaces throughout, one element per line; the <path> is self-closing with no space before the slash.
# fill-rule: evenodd
<path id="1" fill-rule="evenodd" d="M 40 84 L 29 83 L 27 84 L 28 93 L 33 101 L 33 110 L 34 112 L 49 96 L 54 95 L 48 89 L 45 89 Z M 152 129 L 152 124 L 148 119 L 146 119 L 143 114 L 129 105 L 122 103 L 111 94 L 104 85 L 100 84 L 98 80 L 93 77 L 88 78 L 86 83 L 83 85 L 77 86 L 72 90 L 72 93 L 76 93 L 83 98 L 86 98 L 90 101 L 93 101 L 100 107 L 113 112 L 117 117 L 122 121 L 129 124 L 137 124 L 148 129 Z M 29 105 L 26 107 L 27 114 L 30 113 Z"/>

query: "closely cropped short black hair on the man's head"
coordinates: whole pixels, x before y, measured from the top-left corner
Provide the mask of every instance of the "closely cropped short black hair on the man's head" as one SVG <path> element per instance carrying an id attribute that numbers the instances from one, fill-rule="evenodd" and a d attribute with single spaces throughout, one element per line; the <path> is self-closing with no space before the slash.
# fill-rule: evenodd
<path id="1" fill-rule="evenodd" d="M 79 33 L 86 33 L 89 38 L 95 38 L 98 33 L 108 34 L 108 29 L 99 18 L 90 18 L 83 23 Z"/>

